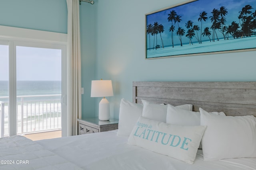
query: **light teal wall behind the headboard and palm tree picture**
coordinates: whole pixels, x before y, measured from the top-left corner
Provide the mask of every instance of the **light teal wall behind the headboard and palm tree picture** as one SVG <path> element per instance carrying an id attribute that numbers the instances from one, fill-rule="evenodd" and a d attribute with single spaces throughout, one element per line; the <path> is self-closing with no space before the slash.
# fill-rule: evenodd
<path id="1" fill-rule="evenodd" d="M 99 0 L 96 4 L 96 78 L 113 82 L 114 96 L 107 98 L 112 117 L 118 118 L 121 98 L 132 101 L 132 81 L 256 81 L 256 51 L 144 59 L 145 14 L 180 2 L 184 0 Z"/>

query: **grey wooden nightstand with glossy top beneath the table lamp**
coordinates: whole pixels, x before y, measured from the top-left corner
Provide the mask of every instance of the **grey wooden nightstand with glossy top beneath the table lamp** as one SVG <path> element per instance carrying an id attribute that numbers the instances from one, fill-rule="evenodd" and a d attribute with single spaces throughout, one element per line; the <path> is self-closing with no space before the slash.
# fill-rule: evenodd
<path id="1" fill-rule="evenodd" d="M 98 117 L 77 119 L 78 134 L 112 131 L 118 129 L 118 120 L 100 121 Z"/>

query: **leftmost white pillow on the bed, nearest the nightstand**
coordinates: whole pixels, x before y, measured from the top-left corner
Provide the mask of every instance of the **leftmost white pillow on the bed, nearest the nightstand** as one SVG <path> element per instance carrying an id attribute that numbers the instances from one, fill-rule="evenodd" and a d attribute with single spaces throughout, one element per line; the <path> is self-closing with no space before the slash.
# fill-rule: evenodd
<path id="1" fill-rule="evenodd" d="M 120 102 L 118 136 L 129 136 L 138 118 L 142 115 L 142 104 L 122 99 Z"/>

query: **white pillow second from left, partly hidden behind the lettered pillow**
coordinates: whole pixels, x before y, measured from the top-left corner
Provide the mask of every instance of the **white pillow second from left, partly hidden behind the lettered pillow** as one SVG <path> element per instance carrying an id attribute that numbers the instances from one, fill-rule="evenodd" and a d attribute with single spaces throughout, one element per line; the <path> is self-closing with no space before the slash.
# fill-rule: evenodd
<path id="1" fill-rule="evenodd" d="M 142 103 L 143 103 L 143 111 L 142 111 L 143 117 L 166 123 L 167 105 L 152 104 L 150 102 L 147 102 L 146 100 L 142 100 Z M 184 104 L 184 105 L 175 106 L 175 107 L 192 111 L 193 105 Z"/>

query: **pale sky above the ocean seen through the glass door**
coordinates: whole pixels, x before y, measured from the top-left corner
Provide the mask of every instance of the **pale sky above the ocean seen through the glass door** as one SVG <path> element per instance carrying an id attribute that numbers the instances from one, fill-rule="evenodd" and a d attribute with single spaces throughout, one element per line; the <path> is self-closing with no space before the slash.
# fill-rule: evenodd
<path id="1" fill-rule="evenodd" d="M 8 45 L 0 45 L 0 81 L 9 80 Z M 61 50 L 16 47 L 16 78 L 19 80 L 61 80 Z"/>

